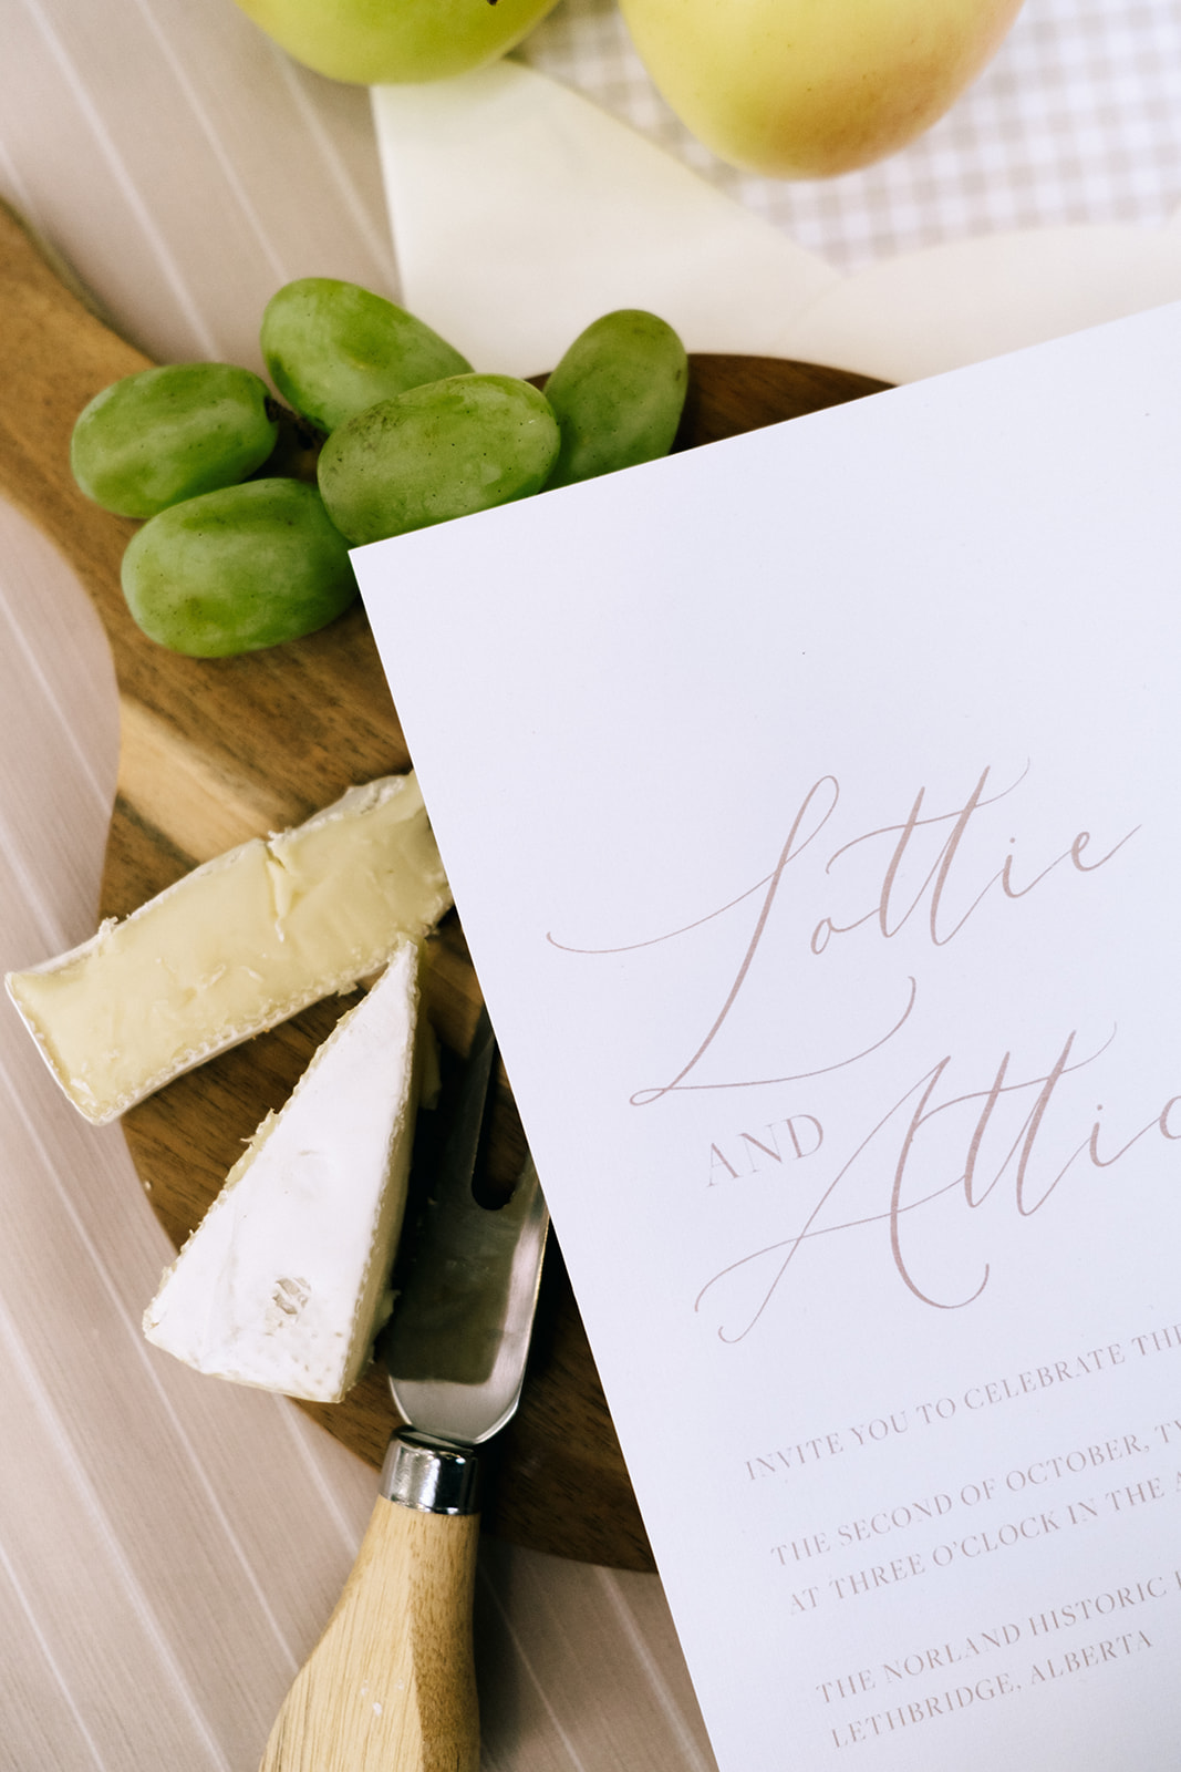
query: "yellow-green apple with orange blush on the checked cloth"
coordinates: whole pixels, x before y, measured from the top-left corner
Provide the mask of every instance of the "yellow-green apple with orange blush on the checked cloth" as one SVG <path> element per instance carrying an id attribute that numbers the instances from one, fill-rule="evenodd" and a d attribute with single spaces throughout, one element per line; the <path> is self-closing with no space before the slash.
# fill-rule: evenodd
<path id="1" fill-rule="evenodd" d="M 928 129 L 1022 0 L 620 0 L 676 115 L 779 179 L 869 167 Z"/>

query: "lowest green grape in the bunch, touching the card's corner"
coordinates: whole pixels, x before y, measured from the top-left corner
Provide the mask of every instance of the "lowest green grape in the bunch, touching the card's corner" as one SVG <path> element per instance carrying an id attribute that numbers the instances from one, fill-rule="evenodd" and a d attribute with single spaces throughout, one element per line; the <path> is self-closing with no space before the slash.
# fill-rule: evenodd
<path id="1" fill-rule="evenodd" d="M 122 588 L 145 634 L 204 659 L 297 640 L 356 597 L 343 537 L 303 480 L 170 505 L 131 537 Z"/>

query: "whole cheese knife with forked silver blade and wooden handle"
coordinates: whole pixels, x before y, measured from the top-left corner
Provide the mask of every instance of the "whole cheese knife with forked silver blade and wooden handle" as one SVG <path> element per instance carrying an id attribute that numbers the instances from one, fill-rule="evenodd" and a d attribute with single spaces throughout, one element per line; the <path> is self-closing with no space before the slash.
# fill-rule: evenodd
<path id="1" fill-rule="evenodd" d="M 480 1449 L 521 1398 L 549 1228 L 531 1157 L 505 1205 L 473 1193 L 496 1058 L 483 1010 L 386 1333 L 405 1426 L 390 1441 L 352 1574 L 283 1701 L 260 1772 L 476 1772 L 480 1763 L 471 1643 Z"/>

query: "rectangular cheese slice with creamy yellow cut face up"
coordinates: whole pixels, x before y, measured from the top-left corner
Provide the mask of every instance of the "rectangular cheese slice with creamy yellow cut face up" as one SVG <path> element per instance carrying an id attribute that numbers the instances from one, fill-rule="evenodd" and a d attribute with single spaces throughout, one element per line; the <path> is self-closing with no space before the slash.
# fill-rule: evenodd
<path id="1" fill-rule="evenodd" d="M 379 971 L 450 907 L 418 781 L 349 789 L 306 824 L 204 863 L 5 985 L 96 1125 Z"/>

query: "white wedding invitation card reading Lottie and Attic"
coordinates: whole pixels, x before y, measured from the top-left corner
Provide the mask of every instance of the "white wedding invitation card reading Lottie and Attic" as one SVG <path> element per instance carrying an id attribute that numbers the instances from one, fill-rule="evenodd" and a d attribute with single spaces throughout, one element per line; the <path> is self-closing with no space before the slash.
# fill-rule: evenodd
<path id="1" fill-rule="evenodd" d="M 1181 308 L 354 563 L 722 1772 L 1174 1772 Z"/>

